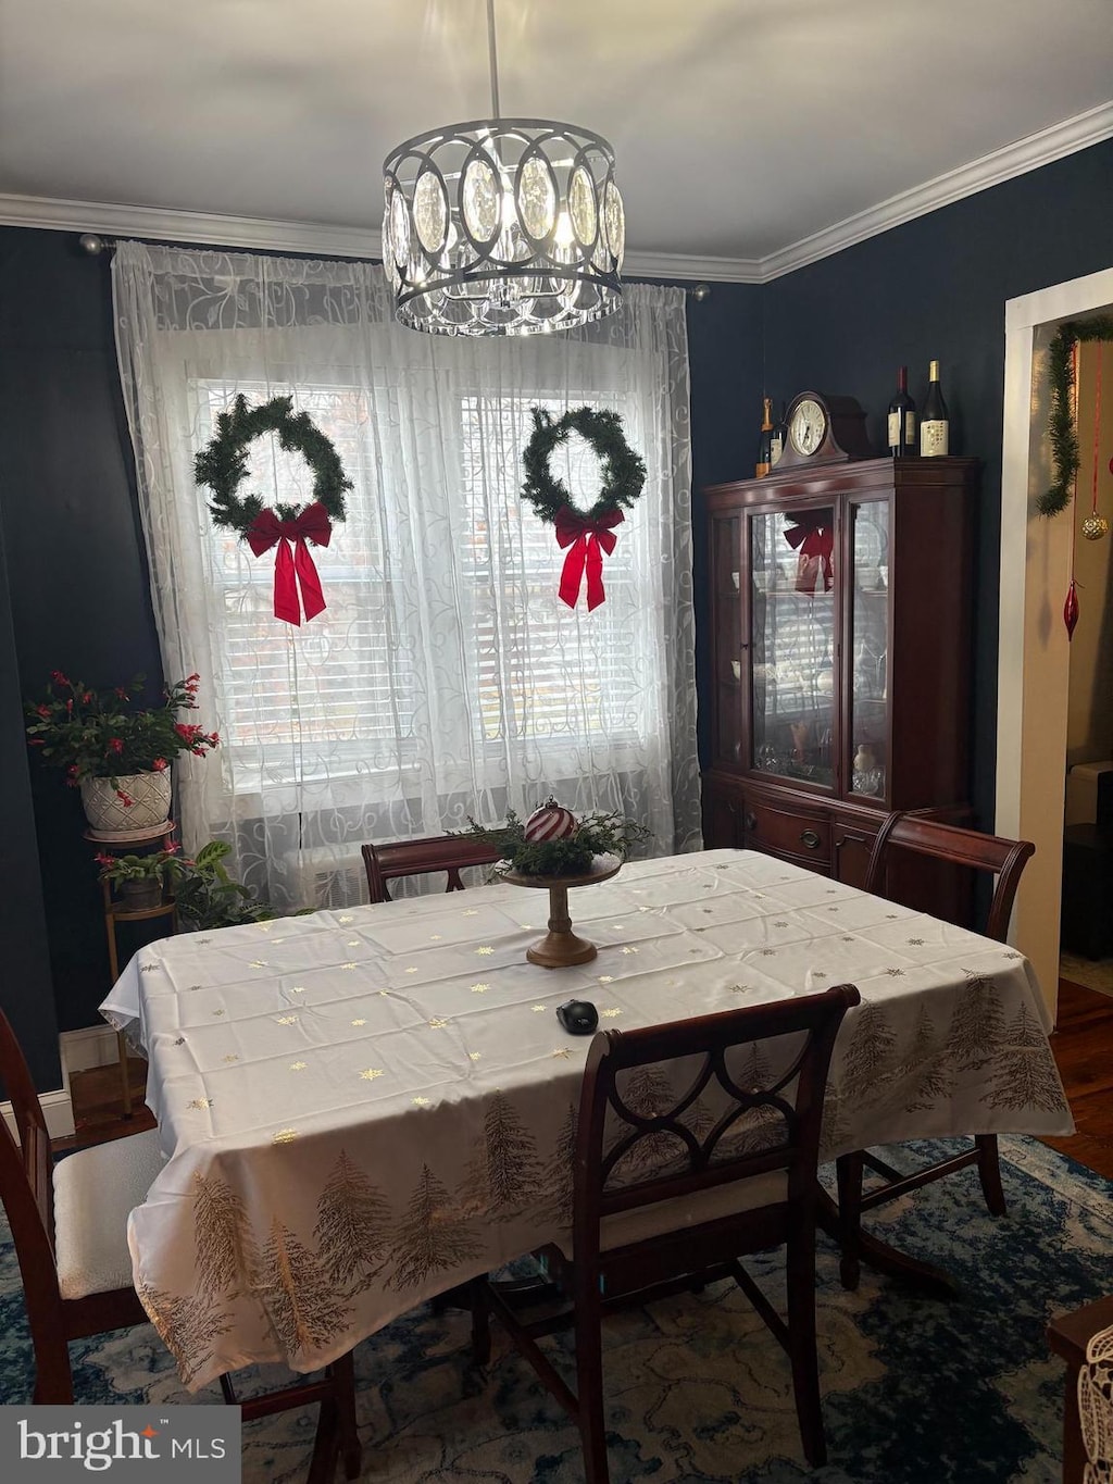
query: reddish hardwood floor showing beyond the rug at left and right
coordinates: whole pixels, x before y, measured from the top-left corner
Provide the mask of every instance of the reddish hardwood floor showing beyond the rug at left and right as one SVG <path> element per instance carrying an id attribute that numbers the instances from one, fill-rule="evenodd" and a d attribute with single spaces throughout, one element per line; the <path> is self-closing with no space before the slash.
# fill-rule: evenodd
<path id="1" fill-rule="evenodd" d="M 1045 1143 L 1113 1180 L 1113 996 L 1060 981 L 1060 1021 L 1051 1046 L 1077 1132 Z M 74 1073 L 70 1089 L 77 1132 L 55 1147 L 98 1144 L 153 1128 L 154 1119 L 142 1101 L 145 1070 L 145 1061 L 129 1058 L 135 1110 L 131 1119 L 122 1117 L 119 1067 Z"/>

